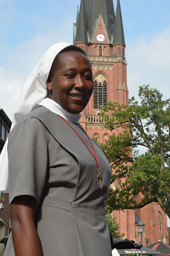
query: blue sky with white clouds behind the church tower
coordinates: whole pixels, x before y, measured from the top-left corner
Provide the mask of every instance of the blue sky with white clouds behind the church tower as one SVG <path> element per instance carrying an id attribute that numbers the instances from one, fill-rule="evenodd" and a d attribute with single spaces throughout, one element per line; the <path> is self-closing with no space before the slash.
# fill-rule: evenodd
<path id="1" fill-rule="evenodd" d="M 10 119 L 43 53 L 58 41 L 72 43 L 79 4 L 80 0 L 0 0 L 0 107 Z M 120 4 L 130 97 L 138 99 L 143 84 L 159 89 L 164 99 L 170 97 L 170 0 Z"/>

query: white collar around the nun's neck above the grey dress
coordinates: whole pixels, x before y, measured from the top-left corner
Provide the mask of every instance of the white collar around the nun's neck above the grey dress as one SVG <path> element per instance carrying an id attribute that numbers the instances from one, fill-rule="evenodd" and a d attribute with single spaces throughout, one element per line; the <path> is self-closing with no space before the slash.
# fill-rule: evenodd
<path id="1" fill-rule="evenodd" d="M 82 116 L 81 113 L 78 114 L 72 114 L 66 111 L 64 108 L 62 108 L 57 102 L 54 102 L 54 100 L 45 98 L 43 99 L 38 105 L 44 106 L 45 108 L 48 108 L 55 114 L 62 116 L 64 119 L 74 122 L 76 124 L 79 124 L 79 119 Z"/>

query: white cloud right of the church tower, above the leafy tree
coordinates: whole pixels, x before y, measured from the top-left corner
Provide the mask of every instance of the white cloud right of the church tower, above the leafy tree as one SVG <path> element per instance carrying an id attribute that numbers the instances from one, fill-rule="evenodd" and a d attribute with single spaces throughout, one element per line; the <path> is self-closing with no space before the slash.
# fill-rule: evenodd
<path id="1" fill-rule="evenodd" d="M 148 38 L 148 36 L 147 36 Z M 137 96 L 140 85 L 150 84 L 170 97 L 170 27 L 154 38 L 140 38 L 127 44 L 127 84 L 130 96 Z"/>

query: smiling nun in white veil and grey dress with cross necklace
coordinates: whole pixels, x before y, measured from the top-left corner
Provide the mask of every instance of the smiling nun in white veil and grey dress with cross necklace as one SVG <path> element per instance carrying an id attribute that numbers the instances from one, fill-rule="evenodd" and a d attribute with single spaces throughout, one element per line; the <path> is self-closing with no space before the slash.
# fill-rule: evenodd
<path id="1" fill-rule="evenodd" d="M 79 125 L 92 92 L 90 61 L 65 43 L 52 46 L 28 78 L 8 138 L 11 234 L 4 256 L 111 256 L 111 168 Z"/>

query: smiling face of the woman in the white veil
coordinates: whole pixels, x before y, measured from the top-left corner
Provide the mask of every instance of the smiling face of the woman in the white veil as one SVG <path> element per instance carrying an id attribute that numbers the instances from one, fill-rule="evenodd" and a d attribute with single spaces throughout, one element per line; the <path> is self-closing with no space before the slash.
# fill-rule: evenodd
<path id="1" fill-rule="evenodd" d="M 62 52 L 54 76 L 48 79 L 51 99 L 70 113 L 81 112 L 91 97 L 94 87 L 91 64 L 81 52 Z"/>

